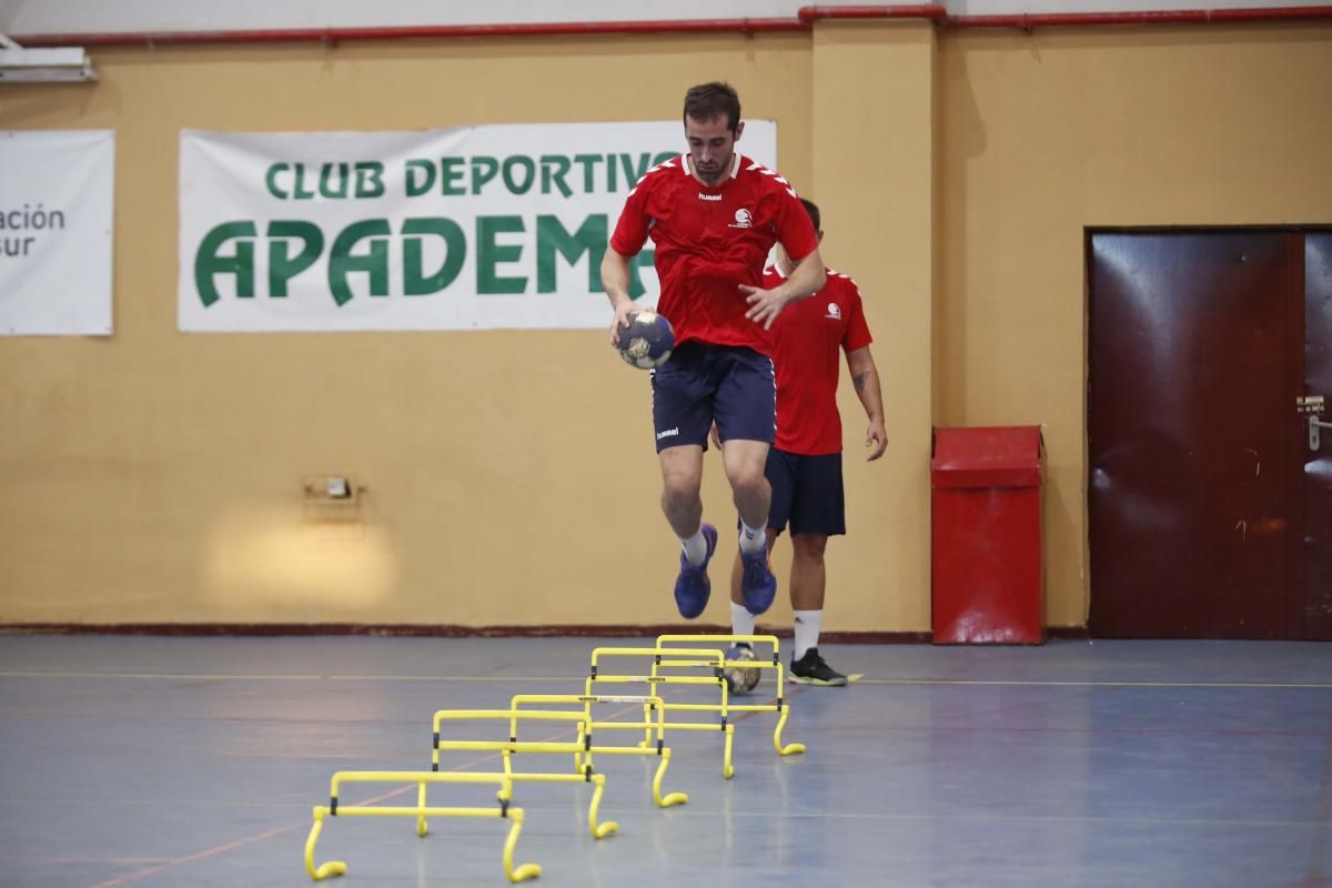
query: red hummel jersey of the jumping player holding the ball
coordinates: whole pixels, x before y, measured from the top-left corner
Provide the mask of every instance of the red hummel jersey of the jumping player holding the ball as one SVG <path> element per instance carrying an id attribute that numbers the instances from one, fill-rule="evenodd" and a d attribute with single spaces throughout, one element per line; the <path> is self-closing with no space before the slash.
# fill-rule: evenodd
<path id="1" fill-rule="evenodd" d="M 745 317 L 741 284 L 761 286 L 773 244 L 787 256 L 814 252 L 818 238 L 795 189 L 775 172 L 735 154 L 715 188 L 689 172 L 689 154 L 653 166 L 625 201 L 610 249 L 634 256 L 651 234 L 662 294 L 657 312 L 675 342 L 745 345 L 769 354 L 763 326 Z"/>

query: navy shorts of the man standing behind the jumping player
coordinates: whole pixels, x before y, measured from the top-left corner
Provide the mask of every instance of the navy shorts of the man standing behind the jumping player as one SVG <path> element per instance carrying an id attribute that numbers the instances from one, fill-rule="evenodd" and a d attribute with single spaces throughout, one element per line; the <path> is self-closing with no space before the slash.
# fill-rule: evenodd
<path id="1" fill-rule="evenodd" d="M 842 454 L 802 457 L 773 447 L 763 469 L 773 485 L 767 526 L 791 534 L 846 533 L 846 498 L 842 490 Z"/>

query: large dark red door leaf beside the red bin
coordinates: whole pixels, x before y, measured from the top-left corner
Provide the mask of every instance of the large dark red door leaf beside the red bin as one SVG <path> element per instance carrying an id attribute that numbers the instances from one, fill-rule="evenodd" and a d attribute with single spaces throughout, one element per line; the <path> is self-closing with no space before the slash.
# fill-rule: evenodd
<path id="1" fill-rule="evenodd" d="M 1088 269 L 1092 634 L 1308 636 L 1304 236 L 1100 232 Z"/>

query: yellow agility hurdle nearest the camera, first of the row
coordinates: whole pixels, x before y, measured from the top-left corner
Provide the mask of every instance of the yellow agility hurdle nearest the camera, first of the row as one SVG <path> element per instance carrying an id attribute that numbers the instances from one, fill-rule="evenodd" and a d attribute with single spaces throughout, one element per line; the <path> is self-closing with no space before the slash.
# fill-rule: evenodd
<path id="1" fill-rule="evenodd" d="M 338 808 L 338 789 L 344 783 L 416 783 L 420 785 L 420 795 L 414 807 L 390 805 L 344 805 Z M 429 783 L 494 783 L 500 791 L 496 797 L 497 808 L 458 808 L 458 807 L 429 807 L 425 804 L 425 787 Z M 510 804 L 513 799 L 513 779 L 502 774 L 432 774 L 428 771 L 338 771 L 333 775 L 333 784 L 329 791 L 329 804 L 314 807 L 314 824 L 310 835 L 305 840 L 305 871 L 314 881 L 322 881 L 329 876 L 346 873 L 346 863 L 330 860 L 314 864 L 314 845 L 324 831 L 324 817 L 417 817 L 417 823 L 424 823 L 426 816 L 432 817 L 501 817 L 509 820 L 509 837 L 503 843 L 503 873 L 509 881 L 518 883 L 535 879 L 541 875 L 541 867 L 534 863 L 525 863 L 514 868 L 513 853 L 518 844 L 518 833 L 522 832 L 523 809 Z M 425 835 L 418 827 L 417 832 Z"/>

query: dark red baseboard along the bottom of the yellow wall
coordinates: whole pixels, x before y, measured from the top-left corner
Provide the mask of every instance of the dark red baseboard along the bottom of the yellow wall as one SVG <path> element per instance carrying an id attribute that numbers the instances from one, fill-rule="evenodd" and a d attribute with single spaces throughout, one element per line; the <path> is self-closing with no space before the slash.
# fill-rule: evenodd
<path id="1" fill-rule="evenodd" d="M 791 628 L 759 624 L 758 631 L 791 638 Z M 566 626 L 449 626 L 436 623 L 0 623 L 0 635 L 380 635 L 396 638 L 657 638 L 658 635 L 721 635 L 729 626 L 566 624 Z M 1051 626 L 1052 639 L 1087 639 L 1082 626 Z M 927 644 L 930 632 L 821 632 L 829 644 Z"/>

